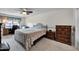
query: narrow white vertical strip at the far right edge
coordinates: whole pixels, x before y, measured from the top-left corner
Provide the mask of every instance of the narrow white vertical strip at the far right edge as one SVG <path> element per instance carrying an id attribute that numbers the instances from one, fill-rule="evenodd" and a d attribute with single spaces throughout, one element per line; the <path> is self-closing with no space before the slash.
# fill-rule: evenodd
<path id="1" fill-rule="evenodd" d="M 79 9 L 75 10 L 75 26 L 76 26 L 76 34 L 75 34 L 75 45 L 79 49 Z"/>

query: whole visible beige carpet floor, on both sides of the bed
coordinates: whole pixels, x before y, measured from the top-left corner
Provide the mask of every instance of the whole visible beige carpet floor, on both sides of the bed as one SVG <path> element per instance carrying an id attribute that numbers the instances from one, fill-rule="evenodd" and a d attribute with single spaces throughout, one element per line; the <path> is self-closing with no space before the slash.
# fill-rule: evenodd
<path id="1" fill-rule="evenodd" d="M 25 51 L 25 49 L 14 40 L 14 35 L 8 35 L 2 37 L 3 42 L 8 42 L 10 45 L 10 51 Z M 42 38 L 30 51 L 75 51 L 72 46 L 62 44 L 47 38 Z"/>

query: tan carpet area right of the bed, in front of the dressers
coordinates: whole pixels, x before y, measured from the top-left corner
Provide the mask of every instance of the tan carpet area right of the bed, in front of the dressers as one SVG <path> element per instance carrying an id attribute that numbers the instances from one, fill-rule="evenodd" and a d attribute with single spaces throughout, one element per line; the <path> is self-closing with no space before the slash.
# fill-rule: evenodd
<path id="1" fill-rule="evenodd" d="M 77 51 L 77 49 L 73 46 L 43 38 L 30 51 Z"/>

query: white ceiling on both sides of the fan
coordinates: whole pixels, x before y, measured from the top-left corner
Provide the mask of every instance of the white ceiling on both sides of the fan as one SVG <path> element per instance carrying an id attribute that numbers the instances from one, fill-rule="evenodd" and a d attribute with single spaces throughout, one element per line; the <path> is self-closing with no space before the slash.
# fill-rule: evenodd
<path id="1" fill-rule="evenodd" d="M 45 13 L 49 11 L 56 12 L 62 8 L 26 8 L 28 11 L 33 11 L 29 15 L 36 15 L 39 13 Z M 64 9 L 64 8 L 63 8 Z M 67 9 L 67 8 L 66 8 Z M 22 8 L 0 8 L 0 15 L 11 17 L 26 17 L 27 15 L 21 14 Z"/>

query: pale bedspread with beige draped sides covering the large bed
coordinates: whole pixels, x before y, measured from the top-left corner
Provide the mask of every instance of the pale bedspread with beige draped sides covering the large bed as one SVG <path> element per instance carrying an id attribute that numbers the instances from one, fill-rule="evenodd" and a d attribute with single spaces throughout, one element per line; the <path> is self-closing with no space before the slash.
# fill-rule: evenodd
<path id="1" fill-rule="evenodd" d="M 33 42 L 45 34 L 45 28 L 17 29 L 15 31 L 15 39 L 22 43 L 25 46 L 26 50 L 29 50 L 31 48 L 31 45 L 33 45 Z"/>

